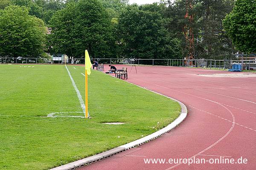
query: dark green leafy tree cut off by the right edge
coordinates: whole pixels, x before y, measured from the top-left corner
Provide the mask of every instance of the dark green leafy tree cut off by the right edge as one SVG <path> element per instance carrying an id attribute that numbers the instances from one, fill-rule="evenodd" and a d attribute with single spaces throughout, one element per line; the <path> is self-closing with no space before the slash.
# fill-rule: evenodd
<path id="1" fill-rule="evenodd" d="M 239 51 L 256 51 L 256 0 L 236 0 L 223 24 Z"/>

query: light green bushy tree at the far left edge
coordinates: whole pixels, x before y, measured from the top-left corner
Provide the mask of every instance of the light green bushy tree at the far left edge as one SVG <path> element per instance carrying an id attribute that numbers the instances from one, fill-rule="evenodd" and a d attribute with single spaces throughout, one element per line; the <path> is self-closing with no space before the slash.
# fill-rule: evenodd
<path id="1" fill-rule="evenodd" d="M 0 56 L 40 57 L 46 27 L 29 9 L 10 5 L 0 10 Z"/>

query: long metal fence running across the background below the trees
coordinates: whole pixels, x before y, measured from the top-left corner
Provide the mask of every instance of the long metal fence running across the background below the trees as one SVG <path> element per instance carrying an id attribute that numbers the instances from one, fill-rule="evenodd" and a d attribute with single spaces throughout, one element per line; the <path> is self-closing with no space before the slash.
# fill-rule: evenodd
<path id="1" fill-rule="evenodd" d="M 91 59 L 99 64 L 165 65 L 177 67 L 200 67 L 230 69 L 233 63 L 241 63 L 243 70 L 256 70 L 256 60 L 215 60 L 215 59 Z M 0 64 L 84 64 L 84 59 L 10 58 L 0 57 Z"/>

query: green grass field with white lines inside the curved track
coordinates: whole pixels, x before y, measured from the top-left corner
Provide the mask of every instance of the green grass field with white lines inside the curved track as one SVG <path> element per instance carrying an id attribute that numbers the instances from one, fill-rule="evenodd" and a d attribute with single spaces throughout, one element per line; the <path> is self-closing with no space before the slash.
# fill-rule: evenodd
<path id="1" fill-rule="evenodd" d="M 20 66 L 0 65 L 1 170 L 46 170 L 92 156 L 151 134 L 180 113 L 177 102 L 92 71 L 92 119 L 46 117 L 84 115 L 65 66 Z M 84 100 L 84 67 L 67 67 Z"/>

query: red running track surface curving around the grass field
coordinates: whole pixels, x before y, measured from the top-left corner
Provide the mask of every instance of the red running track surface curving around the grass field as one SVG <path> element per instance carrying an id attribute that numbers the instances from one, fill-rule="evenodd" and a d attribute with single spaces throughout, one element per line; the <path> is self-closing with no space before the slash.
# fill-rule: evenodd
<path id="1" fill-rule="evenodd" d="M 188 116 L 169 133 L 81 170 L 256 170 L 256 77 L 206 77 L 198 74 L 237 73 L 164 66 L 137 66 L 138 74 L 130 70 L 128 82 L 180 100 Z M 206 163 L 168 162 L 193 156 Z M 247 164 L 207 162 L 220 156 L 222 161 L 242 157 Z M 167 163 L 145 164 L 144 159 Z"/>

